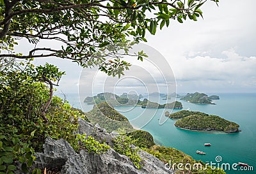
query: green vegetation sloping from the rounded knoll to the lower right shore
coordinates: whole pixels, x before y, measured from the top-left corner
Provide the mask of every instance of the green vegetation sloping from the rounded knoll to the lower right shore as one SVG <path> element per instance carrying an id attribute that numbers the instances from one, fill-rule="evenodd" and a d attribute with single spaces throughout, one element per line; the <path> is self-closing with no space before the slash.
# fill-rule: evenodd
<path id="1" fill-rule="evenodd" d="M 142 149 L 148 152 L 149 154 L 152 154 L 153 156 L 157 157 L 163 163 L 170 163 L 172 161 L 172 164 L 176 163 L 182 163 L 186 164 L 189 163 L 191 166 L 193 164 L 201 164 L 202 169 L 205 168 L 205 164 L 202 163 L 202 161 L 196 161 L 191 156 L 188 156 L 187 154 L 184 154 L 184 152 L 174 149 L 172 147 L 164 147 L 160 145 L 155 145 L 152 135 L 148 133 L 147 131 L 134 131 L 127 134 L 122 134 L 120 136 L 117 136 L 114 140 L 114 147 L 113 149 L 116 150 L 116 152 L 120 154 L 124 154 L 125 156 L 130 157 L 131 161 L 134 163 L 134 165 L 137 166 L 137 168 L 141 168 L 143 165 L 140 163 L 141 158 L 138 156 L 138 150 Z M 141 143 L 142 142 L 142 143 Z M 132 145 L 136 145 L 136 148 Z M 184 166 L 183 166 L 184 168 Z M 177 169 L 177 165 L 175 166 L 175 169 Z M 220 170 L 217 168 L 216 170 L 211 170 L 211 168 L 208 166 L 207 170 L 200 170 L 200 168 L 197 170 L 177 170 L 177 173 L 186 173 L 186 174 L 204 174 L 204 173 L 218 173 L 218 174 L 225 174 L 223 170 Z"/>

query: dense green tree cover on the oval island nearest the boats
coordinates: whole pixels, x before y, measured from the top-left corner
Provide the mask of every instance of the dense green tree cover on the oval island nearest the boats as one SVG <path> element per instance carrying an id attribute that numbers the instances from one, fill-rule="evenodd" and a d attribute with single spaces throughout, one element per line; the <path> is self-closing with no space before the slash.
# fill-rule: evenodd
<path id="1" fill-rule="evenodd" d="M 236 132 L 239 125 L 216 115 L 190 115 L 175 122 L 175 126 L 186 129 Z"/>

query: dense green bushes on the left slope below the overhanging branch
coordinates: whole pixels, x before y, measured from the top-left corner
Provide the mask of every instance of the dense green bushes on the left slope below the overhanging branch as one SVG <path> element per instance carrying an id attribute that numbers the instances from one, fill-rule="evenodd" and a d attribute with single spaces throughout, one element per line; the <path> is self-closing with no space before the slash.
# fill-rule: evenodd
<path id="1" fill-rule="evenodd" d="M 58 73 L 54 66 L 45 68 L 49 68 L 45 72 L 54 70 Z M 24 66 L 9 62 L 0 69 L 0 173 L 13 173 L 18 161 L 22 170 L 28 172 L 35 159 L 33 154 L 42 152 L 47 136 L 67 140 L 75 150 L 100 153 L 109 148 L 90 136 L 85 138 L 85 135 L 74 134 L 78 128 L 78 117 L 85 119 L 84 115 L 62 99 L 51 97 L 51 87 L 44 82 L 35 82 L 39 76 L 35 69 L 39 71 L 40 67 L 29 62 Z M 47 77 L 44 73 L 41 75 Z M 49 106 L 45 112 L 47 103 Z M 40 170 L 35 169 L 34 172 Z"/>

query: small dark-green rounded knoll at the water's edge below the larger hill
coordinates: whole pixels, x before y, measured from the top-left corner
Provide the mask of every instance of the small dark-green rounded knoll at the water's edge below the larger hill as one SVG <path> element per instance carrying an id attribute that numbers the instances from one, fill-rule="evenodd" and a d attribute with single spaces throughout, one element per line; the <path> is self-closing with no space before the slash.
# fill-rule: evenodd
<path id="1" fill-rule="evenodd" d="M 131 133 L 127 133 L 134 140 L 133 144 L 140 148 L 149 148 L 155 145 L 153 136 L 147 131 L 136 130 Z"/>

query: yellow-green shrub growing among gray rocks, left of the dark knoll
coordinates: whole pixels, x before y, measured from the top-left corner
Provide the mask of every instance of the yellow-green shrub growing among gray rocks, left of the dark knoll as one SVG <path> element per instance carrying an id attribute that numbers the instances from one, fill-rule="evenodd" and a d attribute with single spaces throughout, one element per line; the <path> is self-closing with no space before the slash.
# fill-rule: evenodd
<path id="1" fill-rule="evenodd" d="M 134 165 L 138 169 L 141 168 L 141 164 L 140 164 L 141 158 L 137 153 L 139 149 L 137 147 L 132 146 L 135 143 L 135 140 L 132 140 L 131 137 L 129 136 L 119 135 L 113 139 L 113 142 L 114 142 L 113 149 L 116 152 L 129 157 L 132 163 L 134 163 Z"/>

